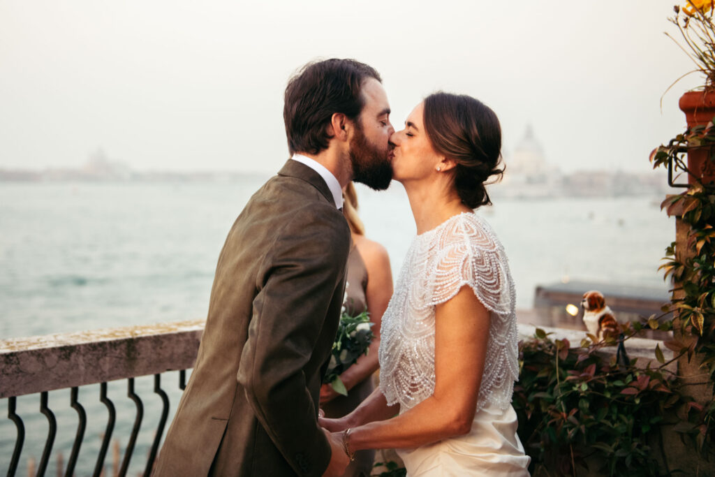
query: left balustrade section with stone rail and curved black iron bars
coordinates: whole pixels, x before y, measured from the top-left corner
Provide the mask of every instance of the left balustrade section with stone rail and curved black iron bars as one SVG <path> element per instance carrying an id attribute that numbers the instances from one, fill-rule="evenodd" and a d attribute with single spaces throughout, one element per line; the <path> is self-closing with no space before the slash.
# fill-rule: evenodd
<path id="1" fill-rule="evenodd" d="M 68 414 L 64 410 L 59 410 L 61 406 L 49 404 L 49 391 L 59 388 L 60 394 L 63 393 L 62 389 L 69 389 L 69 408 L 74 410 L 77 429 L 74 431 L 74 439 L 71 439 L 71 451 L 66 465 L 61 452 L 56 453 L 58 475 L 72 476 L 79 470 L 80 464 L 82 464 L 82 471 L 79 473 L 91 472 L 94 476 L 105 473 L 106 475 L 107 454 L 119 423 L 128 431 L 128 436 L 114 438 L 112 475 L 127 475 L 130 472 L 132 458 L 134 458 L 134 472 L 137 471 L 138 459 L 134 454 L 137 451 L 140 433 L 153 433 L 149 446 L 144 446 L 148 447 L 147 458 L 142 463 L 140 472 L 148 476 L 159 452 L 164 428 L 169 418 L 170 400 L 167 390 L 162 388 L 162 374 L 167 371 L 179 371 L 178 386 L 172 391 L 174 400 L 177 400 L 177 396 L 186 387 L 186 371 L 193 365 L 202 325 L 202 321 L 199 320 L 0 341 L 0 398 L 6 398 L 9 418 L 5 424 L 0 422 L 0 435 L 5 438 L 4 446 L 3 441 L 0 441 L 0 455 L 9 456 L 11 453 L 7 463 L 7 475 L 15 476 L 21 473 L 23 449 L 28 443 L 41 445 L 42 453 L 36 469 L 31 461 L 26 466 L 26 472 L 36 472 L 36 475 L 42 476 L 48 471 L 58 436 L 58 420 L 55 412 Z M 153 394 L 160 401 L 150 404 L 149 408 L 145 406 L 135 386 L 135 378 L 144 375 L 153 375 Z M 132 403 L 134 412 L 130 418 L 127 418 L 125 412 L 119 417 L 121 422 L 118 422 L 115 401 L 119 404 L 119 400 L 110 398 L 109 385 L 112 385 L 116 392 L 117 385 L 123 380 L 126 380 L 127 400 Z M 93 388 L 99 388 L 99 399 L 85 398 L 81 403 L 80 387 L 90 392 Z M 44 415 L 46 420 L 45 436 L 26 431 L 26 421 L 33 421 L 33 427 L 38 427 L 37 421 L 41 418 L 40 415 L 28 413 L 23 416 L 18 411 L 19 397 L 37 394 L 39 394 L 40 414 Z M 122 403 L 122 408 L 127 406 Z M 147 409 L 152 416 L 158 415 L 157 425 L 153 429 L 147 429 L 147 426 L 142 428 Z M 88 421 L 94 420 L 95 423 L 101 421 L 102 413 L 107 414 L 107 421 L 102 425 L 99 450 L 96 453 L 91 452 L 94 449 L 87 451 L 87 446 L 83 448 L 83 443 L 88 439 Z M 129 423 L 131 423 L 130 431 Z M 16 438 L 10 451 L 8 439 L 13 424 Z M 119 440 L 125 439 L 124 454 L 118 456 L 118 449 L 121 448 Z M 66 445 L 67 440 L 64 441 Z M 66 450 L 69 450 L 69 446 L 66 446 Z M 1 461 L 6 459 L 0 458 Z M 91 470 L 92 463 L 93 470 Z"/>

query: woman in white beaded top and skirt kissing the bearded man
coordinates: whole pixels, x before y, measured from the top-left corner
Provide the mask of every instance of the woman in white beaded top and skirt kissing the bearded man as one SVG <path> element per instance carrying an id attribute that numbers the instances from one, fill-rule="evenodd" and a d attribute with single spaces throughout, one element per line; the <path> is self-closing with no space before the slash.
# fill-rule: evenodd
<path id="1" fill-rule="evenodd" d="M 511 406 L 514 285 L 501 243 L 473 212 L 502 173 L 499 121 L 477 99 L 440 92 L 390 141 L 418 235 L 383 315 L 380 388 L 320 423 L 349 457 L 397 448 L 410 477 L 528 476 Z"/>

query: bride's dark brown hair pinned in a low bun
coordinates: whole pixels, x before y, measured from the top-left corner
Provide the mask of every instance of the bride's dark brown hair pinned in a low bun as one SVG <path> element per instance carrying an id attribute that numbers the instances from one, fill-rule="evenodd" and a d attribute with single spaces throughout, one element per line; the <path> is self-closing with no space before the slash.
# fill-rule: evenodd
<path id="1" fill-rule="evenodd" d="M 499 168 L 501 126 L 496 114 L 478 99 L 445 92 L 425 98 L 424 114 L 435 151 L 457 163 L 454 185 L 462 202 L 472 209 L 490 204 L 485 185 L 504 172 Z"/>

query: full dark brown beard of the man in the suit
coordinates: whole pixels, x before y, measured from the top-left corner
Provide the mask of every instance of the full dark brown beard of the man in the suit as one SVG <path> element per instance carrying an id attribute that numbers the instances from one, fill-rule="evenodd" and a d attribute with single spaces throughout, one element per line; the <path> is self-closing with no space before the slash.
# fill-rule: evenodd
<path id="1" fill-rule="evenodd" d="M 388 158 L 388 151 L 380 151 L 370 144 L 363 133 L 363 128 L 355 129 L 355 137 L 350 142 L 350 162 L 352 180 L 360 182 L 374 190 L 385 190 L 393 180 L 393 164 Z"/>

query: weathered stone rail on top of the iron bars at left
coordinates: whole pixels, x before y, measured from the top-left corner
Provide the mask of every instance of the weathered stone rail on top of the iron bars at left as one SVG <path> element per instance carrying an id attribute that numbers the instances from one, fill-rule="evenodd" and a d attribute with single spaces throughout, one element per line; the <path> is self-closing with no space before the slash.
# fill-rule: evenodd
<path id="1" fill-rule="evenodd" d="M 0 398 L 192 368 L 204 320 L 0 341 Z"/>

